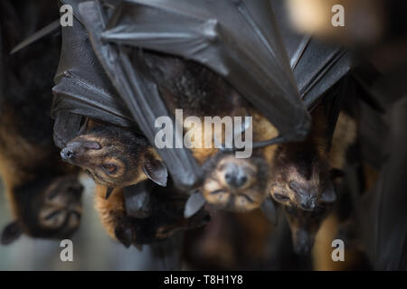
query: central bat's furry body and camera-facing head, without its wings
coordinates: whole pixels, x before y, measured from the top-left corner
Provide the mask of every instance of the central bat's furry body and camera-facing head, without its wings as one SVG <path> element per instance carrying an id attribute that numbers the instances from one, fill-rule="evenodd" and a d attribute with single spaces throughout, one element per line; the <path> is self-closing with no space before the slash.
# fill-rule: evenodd
<path id="1" fill-rule="evenodd" d="M 246 211 L 259 208 L 267 194 L 269 163 L 277 145 L 254 149 L 250 157 L 238 159 L 233 153 L 219 152 L 214 146 L 216 136 L 222 140 L 225 134 L 222 127 L 215 127 L 210 140 L 212 147 L 204 147 L 204 137 L 196 138 L 204 135 L 204 126 L 208 125 L 205 117 L 251 116 L 253 142 L 276 137 L 276 127 L 225 79 L 203 65 L 151 51 L 144 51 L 140 59 L 144 63 L 137 61 L 134 65 L 145 66 L 168 110 L 175 114 L 175 109 L 183 109 L 184 117 L 201 120 L 199 130 L 190 127 L 185 131 L 194 133 L 194 144 L 199 145 L 192 147 L 191 151 L 197 163 L 204 164 L 204 184 L 200 190 L 205 200 L 219 209 Z"/>

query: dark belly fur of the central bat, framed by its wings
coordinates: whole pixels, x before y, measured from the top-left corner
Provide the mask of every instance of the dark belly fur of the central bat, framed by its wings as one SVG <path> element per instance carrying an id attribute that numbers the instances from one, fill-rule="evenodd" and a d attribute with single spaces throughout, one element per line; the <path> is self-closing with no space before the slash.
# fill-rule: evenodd
<path id="1" fill-rule="evenodd" d="M 222 117 L 248 107 L 228 82 L 195 61 L 153 51 L 144 51 L 141 57 L 171 112 L 182 108 L 187 116 Z"/>

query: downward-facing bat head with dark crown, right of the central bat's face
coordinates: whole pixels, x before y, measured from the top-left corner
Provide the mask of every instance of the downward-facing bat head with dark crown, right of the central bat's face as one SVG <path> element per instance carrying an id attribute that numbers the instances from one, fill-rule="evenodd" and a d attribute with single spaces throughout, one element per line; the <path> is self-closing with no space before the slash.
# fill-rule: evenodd
<path id="1" fill-rule="evenodd" d="M 270 173 L 270 195 L 279 203 L 316 210 L 336 200 L 327 160 L 307 143 L 280 145 Z"/>

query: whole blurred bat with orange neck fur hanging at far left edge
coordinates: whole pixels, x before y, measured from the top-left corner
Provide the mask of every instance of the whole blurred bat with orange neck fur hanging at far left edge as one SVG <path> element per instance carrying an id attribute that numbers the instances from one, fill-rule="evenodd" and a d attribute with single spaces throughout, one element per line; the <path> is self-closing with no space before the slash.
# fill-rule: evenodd
<path id="1" fill-rule="evenodd" d="M 3 230 L 1 243 L 11 244 L 23 233 L 33 238 L 69 238 L 80 225 L 82 186 L 78 171 L 60 161 L 52 142 L 50 89 L 58 65 L 59 39 L 48 36 L 29 51 L 9 54 L 27 27 L 41 27 L 58 14 L 47 1 L 41 1 L 33 23 L 25 23 L 17 15 L 31 5 L 22 8 L 10 1 L 0 5 L 1 59 L 5 65 L 0 98 L 0 174 L 14 218 Z"/>

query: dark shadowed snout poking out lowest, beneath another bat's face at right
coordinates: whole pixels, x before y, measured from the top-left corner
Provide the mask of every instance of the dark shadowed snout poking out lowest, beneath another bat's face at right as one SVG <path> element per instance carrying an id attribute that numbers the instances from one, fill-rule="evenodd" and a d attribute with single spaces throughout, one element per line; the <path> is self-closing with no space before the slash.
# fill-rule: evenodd
<path id="1" fill-rule="evenodd" d="M 331 208 L 330 204 L 312 211 L 301 210 L 297 206 L 284 206 L 284 213 L 291 229 L 294 251 L 297 254 L 308 254 L 311 251 L 317 231 Z"/>

